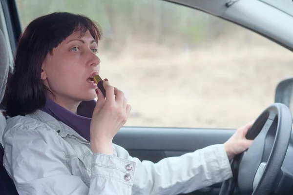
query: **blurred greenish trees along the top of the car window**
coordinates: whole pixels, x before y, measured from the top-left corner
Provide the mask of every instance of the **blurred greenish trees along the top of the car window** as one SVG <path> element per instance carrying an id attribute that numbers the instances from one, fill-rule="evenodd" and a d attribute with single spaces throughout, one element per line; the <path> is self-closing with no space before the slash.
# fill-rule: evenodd
<path id="1" fill-rule="evenodd" d="M 23 27 L 36 17 L 56 11 L 83 14 L 101 25 L 105 48 L 115 48 L 116 52 L 129 41 L 193 46 L 238 29 L 230 22 L 162 0 L 16 1 Z"/>

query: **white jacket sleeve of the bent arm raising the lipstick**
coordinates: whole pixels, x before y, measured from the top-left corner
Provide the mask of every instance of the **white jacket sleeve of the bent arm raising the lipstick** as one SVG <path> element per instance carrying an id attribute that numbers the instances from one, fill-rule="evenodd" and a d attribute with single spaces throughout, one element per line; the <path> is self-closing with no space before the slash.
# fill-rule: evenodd
<path id="1" fill-rule="evenodd" d="M 33 126 L 4 133 L 4 167 L 20 195 L 131 195 L 134 162 L 93 154 L 88 188 L 68 169 L 61 141 L 54 130 Z M 127 171 L 127 165 L 132 169 Z"/>

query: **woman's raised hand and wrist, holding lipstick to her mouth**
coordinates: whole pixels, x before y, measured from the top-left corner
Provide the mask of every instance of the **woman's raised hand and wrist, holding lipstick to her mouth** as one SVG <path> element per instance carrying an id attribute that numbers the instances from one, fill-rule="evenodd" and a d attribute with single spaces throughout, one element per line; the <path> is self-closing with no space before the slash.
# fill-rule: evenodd
<path id="1" fill-rule="evenodd" d="M 98 100 L 90 124 L 91 148 L 93 153 L 113 155 L 113 137 L 126 123 L 131 106 L 124 93 L 110 85 L 107 79 L 103 86 L 107 98 L 99 88 L 96 90 Z"/>

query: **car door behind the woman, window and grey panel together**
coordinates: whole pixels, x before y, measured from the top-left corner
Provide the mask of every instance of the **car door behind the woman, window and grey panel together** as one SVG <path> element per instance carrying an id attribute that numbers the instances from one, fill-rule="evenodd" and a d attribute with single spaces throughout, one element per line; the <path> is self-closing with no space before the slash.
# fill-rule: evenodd
<path id="1" fill-rule="evenodd" d="M 224 143 L 272 104 L 275 86 L 293 75 L 292 53 L 275 43 L 292 48 L 293 39 L 281 39 L 291 27 L 270 23 L 264 11 L 267 22 L 279 27 L 272 32 L 241 0 L 1 2 L 12 52 L 23 28 L 47 13 L 80 13 L 101 25 L 101 77 L 124 91 L 132 105 L 114 143 L 140 160 L 156 163 Z M 292 20 L 261 1 L 253 3 Z M 246 15 L 237 16 L 237 10 Z M 190 195 L 216 195 L 220 186 Z"/>

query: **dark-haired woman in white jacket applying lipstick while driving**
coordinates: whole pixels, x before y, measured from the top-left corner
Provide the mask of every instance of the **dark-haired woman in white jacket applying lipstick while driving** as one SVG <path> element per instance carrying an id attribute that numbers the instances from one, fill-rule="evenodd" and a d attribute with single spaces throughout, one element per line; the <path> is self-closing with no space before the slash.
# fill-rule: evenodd
<path id="1" fill-rule="evenodd" d="M 19 40 L 11 78 L 4 166 L 21 195 L 177 195 L 232 176 L 229 159 L 251 144 L 239 128 L 224 144 L 154 164 L 112 143 L 131 107 L 99 74 L 98 24 L 53 13 Z M 98 96 L 97 102 L 93 99 Z"/>

